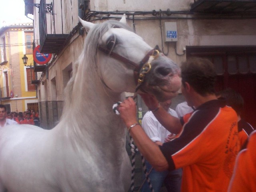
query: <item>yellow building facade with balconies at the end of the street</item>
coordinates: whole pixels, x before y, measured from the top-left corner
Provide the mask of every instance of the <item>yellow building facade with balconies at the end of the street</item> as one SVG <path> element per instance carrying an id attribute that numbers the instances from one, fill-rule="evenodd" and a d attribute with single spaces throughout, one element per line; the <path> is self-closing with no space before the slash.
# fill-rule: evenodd
<path id="1" fill-rule="evenodd" d="M 0 28 L 0 102 L 8 112 L 38 111 L 34 60 L 34 30 L 32 23 Z M 28 57 L 26 66 L 22 57 Z"/>

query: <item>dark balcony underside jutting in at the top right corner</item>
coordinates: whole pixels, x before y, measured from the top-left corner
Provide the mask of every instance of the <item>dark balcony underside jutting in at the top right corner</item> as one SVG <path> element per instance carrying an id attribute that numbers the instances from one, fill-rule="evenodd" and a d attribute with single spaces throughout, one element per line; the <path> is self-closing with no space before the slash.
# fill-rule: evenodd
<path id="1" fill-rule="evenodd" d="M 215 14 L 256 14 L 256 0 L 194 0 L 191 11 Z"/>

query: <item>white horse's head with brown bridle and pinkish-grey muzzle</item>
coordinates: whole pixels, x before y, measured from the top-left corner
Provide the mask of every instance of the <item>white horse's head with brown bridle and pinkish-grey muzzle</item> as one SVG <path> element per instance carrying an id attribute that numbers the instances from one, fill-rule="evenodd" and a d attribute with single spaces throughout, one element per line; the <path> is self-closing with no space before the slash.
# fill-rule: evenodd
<path id="1" fill-rule="evenodd" d="M 86 59 L 93 57 L 91 63 L 98 64 L 96 69 L 108 89 L 114 92 L 142 90 L 154 94 L 159 101 L 176 96 L 181 85 L 180 68 L 132 32 L 126 25 L 125 15 L 120 22 L 108 20 L 93 24 L 82 19 L 80 22 L 88 31 L 84 51 L 90 50 L 90 55 Z M 93 41 L 95 37 L 97 40 Z"/>

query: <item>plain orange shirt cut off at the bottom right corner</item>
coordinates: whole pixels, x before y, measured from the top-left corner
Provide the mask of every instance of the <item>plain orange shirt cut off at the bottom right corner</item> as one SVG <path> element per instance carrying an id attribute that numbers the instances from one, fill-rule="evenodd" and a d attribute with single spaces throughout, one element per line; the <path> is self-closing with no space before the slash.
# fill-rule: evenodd
<path id="1" fill-rule="evenodd" d="M 247 148 L 239 152 L 228 192 L 256 192 L 256 130 L 250 134 Z"/>

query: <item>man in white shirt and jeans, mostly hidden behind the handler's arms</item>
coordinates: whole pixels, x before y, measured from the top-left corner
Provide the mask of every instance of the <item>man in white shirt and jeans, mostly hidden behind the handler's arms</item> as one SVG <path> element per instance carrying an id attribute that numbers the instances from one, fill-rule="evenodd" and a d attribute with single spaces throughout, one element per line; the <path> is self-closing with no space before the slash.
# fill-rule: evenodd
<path id="1" fill-rule="evenodd" d="M 165 102 L 159 102 L 159 104 L 172 116 L 178 117 L 177 113 L 170 109 L 171 100 Z M 174 138 L 175 135 L 171 134 L 166 128 L 164 128 L 156 119 L 152 111 L 146 112 L 142 119 L 142 128 L 148 135 L 148 137 L 158 145 L 162 145 L 164 142 L 168 142 L 169 138 Z M 150 171 L 152 166 L 145 160 L 147 172 Z M 159 192 L 162 184 L 164 183 L 168 192 L 180 192 L 182 169 L 174 171 L 158 172 L 154 169 L 149 174 L 150 182 L 155 192 Z M 145 182 L 142 186 L 141 192 L 150 192 L 148 182 Z"/>

